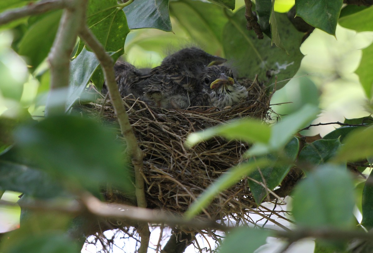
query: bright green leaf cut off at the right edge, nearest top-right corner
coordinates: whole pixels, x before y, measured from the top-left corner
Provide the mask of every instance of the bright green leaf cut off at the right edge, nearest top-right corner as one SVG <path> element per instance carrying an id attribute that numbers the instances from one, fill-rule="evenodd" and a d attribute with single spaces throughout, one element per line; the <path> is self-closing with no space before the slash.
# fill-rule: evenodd
<path id="1" fill-rule="evenodd" d="M 338 23 L 357 32 L 373 31 L 373 6 L 348 5 L 342 9 Z"/>

